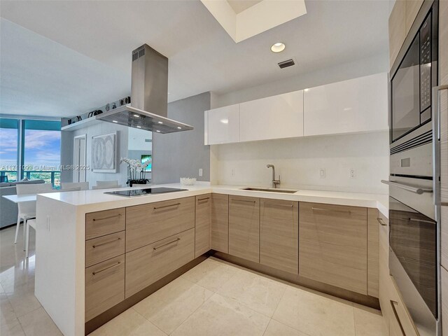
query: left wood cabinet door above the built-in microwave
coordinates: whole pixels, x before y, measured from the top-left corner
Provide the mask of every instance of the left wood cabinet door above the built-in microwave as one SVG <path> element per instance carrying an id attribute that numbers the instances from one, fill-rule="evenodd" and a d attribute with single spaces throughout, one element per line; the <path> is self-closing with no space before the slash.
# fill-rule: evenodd
<path id="1" fill-rule="evenodd" d="M 389 69 L 406 38 L 406 1 L 396 0 L 389 16 Z"/>

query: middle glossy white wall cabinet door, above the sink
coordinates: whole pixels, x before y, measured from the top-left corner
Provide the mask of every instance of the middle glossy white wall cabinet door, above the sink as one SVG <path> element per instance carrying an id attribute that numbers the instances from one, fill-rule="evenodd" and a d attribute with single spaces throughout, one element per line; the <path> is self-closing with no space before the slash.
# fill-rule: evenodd
<path id="1" fill-rule="evenodd" d="M 303 90 L 239 104 L 239 139 L 303 136 Z"/>

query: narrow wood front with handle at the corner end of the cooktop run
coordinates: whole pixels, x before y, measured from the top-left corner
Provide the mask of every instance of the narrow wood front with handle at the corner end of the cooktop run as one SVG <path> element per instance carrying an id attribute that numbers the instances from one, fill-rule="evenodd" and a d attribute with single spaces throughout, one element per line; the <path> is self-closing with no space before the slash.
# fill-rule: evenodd
<path id="1" fill-rule="evenodd" d="M 211 194 L 196 196 L 195 257 L 210 250 Z"/>

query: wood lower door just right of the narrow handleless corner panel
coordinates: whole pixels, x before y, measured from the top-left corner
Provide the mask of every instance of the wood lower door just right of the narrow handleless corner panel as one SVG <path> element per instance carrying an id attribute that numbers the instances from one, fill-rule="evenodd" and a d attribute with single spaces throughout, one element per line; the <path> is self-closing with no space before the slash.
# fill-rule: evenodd
<path id="1" fill-rule="evenodd" d="M 260 199 L 229 196 L 229 254 L 260 262 Z"/>

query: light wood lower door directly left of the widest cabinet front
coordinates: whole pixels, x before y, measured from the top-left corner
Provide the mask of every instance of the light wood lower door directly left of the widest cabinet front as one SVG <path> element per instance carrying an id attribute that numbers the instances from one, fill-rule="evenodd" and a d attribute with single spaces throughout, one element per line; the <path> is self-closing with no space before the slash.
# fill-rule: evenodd
<path id="1" fill-rule="evenodd" d="M 260 200 L 260 264 L 299 271 L 299 203 Z"/>

